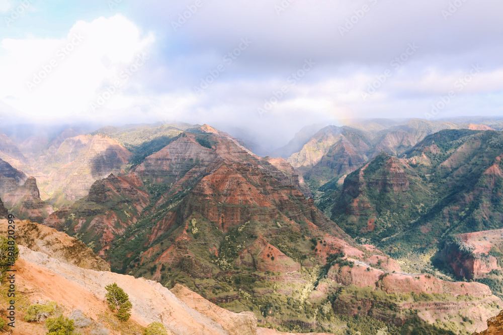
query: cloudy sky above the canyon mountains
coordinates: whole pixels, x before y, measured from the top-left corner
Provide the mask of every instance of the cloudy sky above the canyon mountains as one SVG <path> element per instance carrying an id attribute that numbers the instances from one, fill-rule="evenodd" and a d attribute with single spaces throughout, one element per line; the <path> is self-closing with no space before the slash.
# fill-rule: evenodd
<path id="1" fill-rule="evenodd" d="M 0 0 L 0 123 L 503 116 L 500 0 Z"/>

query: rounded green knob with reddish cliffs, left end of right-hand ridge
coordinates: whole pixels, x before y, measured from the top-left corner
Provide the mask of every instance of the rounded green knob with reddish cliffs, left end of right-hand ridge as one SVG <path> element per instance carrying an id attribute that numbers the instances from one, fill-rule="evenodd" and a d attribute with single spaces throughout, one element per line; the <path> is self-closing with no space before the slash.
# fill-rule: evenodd
<path id="1" fill-rule="evenodd" d="M 402 232 L 435 201 L 435 192 L 417 173 L 404 169 L 397 174 L 389 169 L 391 164 L 400 163 L 379 154 L 365 169 L 349 174 L 333 200 L 332 220 L 362 243 L 379 244 Z M 324 205 L 328 205 L 326 200 Z"/>

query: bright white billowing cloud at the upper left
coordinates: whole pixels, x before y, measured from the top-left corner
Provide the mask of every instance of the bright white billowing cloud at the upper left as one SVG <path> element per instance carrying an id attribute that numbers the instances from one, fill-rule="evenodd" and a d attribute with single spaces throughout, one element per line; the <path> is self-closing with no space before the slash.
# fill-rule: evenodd
<path id="1" fill-rule="evenodd" d="M 60 40 L 4 39 L 0 101 L 33 119 L 65 118 L 88 110 L 104 87 L 121 79 L 122 71 L 139 53 L 148 53 L 153 42 L 153 34 L 142 37 L 121 15 L 77 21 Z M 130 80 L 121 89 L 128 84 Z M 114 98 L 120 100 L 121 94 L 119 90 Z M 124 100 L 115 104 L 127 105 Z"/>

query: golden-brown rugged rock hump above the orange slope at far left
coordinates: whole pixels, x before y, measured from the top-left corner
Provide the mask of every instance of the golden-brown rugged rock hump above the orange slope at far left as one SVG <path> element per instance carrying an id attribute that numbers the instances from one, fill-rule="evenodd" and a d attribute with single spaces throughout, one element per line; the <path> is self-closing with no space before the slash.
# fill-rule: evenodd
<path id="1" fill-rule="evenodd" d="M 61 262 L 83 269 L 110 271 L 110 266 L 82 242 L 37 223 L 16 220 L 16 242 L 33 251 L 44 253 Z M 0 220 L 0 235 L 7 235 L 8 222 Z"/>

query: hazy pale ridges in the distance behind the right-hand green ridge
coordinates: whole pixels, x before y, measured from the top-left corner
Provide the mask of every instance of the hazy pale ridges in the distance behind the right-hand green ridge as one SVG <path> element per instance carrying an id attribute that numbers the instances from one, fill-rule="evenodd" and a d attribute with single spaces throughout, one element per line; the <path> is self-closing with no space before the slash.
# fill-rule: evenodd
<path id="1" fill-rule="evenodd" d="M 333 178 L 344 179 L 381 152 L 400 156 L 426 136 L 443 129 L 486 130 L 486 127 L 426 120 L 398 125 L 365 121 L 349 127 L 327 126 L 305 141 L 288 161 L 316 188 L 316 184 L 323 185 Z"/>

